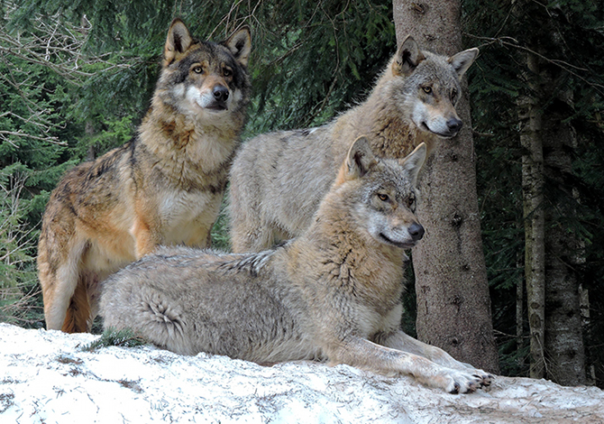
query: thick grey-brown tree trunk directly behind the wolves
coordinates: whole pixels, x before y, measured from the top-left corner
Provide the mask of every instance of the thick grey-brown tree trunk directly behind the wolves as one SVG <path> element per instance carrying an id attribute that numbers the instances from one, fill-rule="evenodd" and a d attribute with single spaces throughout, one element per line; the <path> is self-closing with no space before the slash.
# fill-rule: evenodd
<path id="1" fill-rule="evenodd" d="M 459 1 L 394 0 L 393 5 L 399 44 L 411 34 L 422 49 L 448 55 L 462 51 Z M 464 122 L 461 133 L 436 148 L 420 181 L 417 214 L 426 235 L 413 250 L 417 336 L 497 373 L 465 88 L 457 111 Z"/>

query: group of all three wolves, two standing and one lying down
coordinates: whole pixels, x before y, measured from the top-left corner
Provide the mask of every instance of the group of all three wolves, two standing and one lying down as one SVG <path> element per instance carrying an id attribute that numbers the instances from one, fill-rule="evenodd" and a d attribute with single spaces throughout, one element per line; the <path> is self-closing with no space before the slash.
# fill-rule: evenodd
<path id="1" fill-rule="evenodd" d="M 478 50 L 448 57 L 409 36 L 362 103 L 241 143 L 251 51 L 247 26 L 213 42 L 170 24 L 133 139 L 51 193 L 38 253 L 47 328 L 86 332 L 100 315 L 182 355 L 488 386 L 489 373 L 401 330 L 405 250 L 425 233 L 417 182 L 462 127 L 460 80 Z M 232 253 L 210 236 L 227 183 Z"/>

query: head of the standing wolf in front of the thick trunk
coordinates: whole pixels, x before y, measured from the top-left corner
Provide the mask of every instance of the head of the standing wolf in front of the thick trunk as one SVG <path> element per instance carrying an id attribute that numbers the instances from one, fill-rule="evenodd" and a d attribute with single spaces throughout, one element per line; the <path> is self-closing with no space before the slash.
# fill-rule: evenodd
<path id="1" fill-rule="evenodd" d="M 461 51 L 449 58 L 420 51 L 410 35 L 392 60 L 397 103 L 420 130 L 451 138 L 459 133 L 462 120 L 455 111 L 460 79 L 476 59 L 478 49 Z"/>

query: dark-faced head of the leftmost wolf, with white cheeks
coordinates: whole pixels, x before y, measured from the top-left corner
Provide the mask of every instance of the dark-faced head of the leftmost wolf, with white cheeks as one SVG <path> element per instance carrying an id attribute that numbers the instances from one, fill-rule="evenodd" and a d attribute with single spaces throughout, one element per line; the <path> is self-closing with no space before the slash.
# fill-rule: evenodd
<path id="1" fill-rule="evenodd" d="M 197 41 L 175 19 L 168 31 L 157 95 L 179 113 L 215 119 L 247 105 L 250 28 L 243 26 L 219 43 Z"/>

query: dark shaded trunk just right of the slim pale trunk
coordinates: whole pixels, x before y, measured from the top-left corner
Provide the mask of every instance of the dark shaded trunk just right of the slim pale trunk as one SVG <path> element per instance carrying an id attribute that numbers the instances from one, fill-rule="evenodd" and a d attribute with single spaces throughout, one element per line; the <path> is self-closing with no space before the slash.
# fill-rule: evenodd
<path id="1" fill-rule="evenodd" d="M 546 84 L 545 87 L 554 87 Z M 560 93 L 558 93 L 560 95 Z M 543 117 L 544 167 L 554 190 L 545 213 L 545 355 L 547 378 L 563 385 L 586 383 L 581 320 L 581 292 L 576 266 L 582 249 L 569 223 L 577 215 L 577 194 L 566 176 L 572 175 L 571 152 L 576 146 L 572 115 L 566 101 L 549 102 Z"/>

